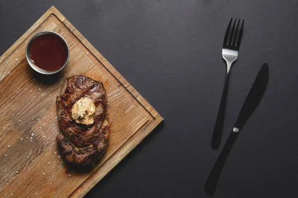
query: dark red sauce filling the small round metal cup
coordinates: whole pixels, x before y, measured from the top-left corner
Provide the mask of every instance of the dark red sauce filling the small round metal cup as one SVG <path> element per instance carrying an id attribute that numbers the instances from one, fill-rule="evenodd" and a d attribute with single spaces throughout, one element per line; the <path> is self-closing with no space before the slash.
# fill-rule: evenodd
<path id="1" fill-rule="evenodd" d="M 32 63 L 37 67 L 54 71 L 63 66 L 67 59 L 67 47 L 64 41 L 51 34 L 37 37 L 30 46 Z"/>

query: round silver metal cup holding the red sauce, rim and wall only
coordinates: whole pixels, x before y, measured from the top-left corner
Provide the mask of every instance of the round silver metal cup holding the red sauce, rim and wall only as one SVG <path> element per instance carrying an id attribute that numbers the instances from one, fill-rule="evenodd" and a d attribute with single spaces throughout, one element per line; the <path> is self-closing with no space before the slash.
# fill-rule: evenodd
<path id="1" fill-rule="evenodd" d="M 58 36 L 65 43 L 65 46 L 66 46 L 66 49 L 67 49 L 67 58 L 66 58 L 64 64 L 60 68 L 58 68 L 57 70 L 53 70 L 53 71 L 46 71 L 46 70 L 43 70 L 43 69 L 39 68 L 38 66 L 36 66 L 32 62 L 32 59 L 30 57 L 30 47 L 31 47 L 33 41 L 36 38 L 38 38 L 39 36 L 46 35 L 46 34 Z M 60 34 L 58 34 L 56 32 L 53 32 L 53 31 L 42 31 L 42 32 L 36 33 L 33 37 L 31 37 L 31 39 L 28 41 L 28 44 L 26 46 L 26 59 L 27 59 L 27 62 L 29 63 L 29 65 L 32 69 L 34 69 L 36 72 L 41 73 L 41 74 L 55 74 L 55 73 L 61 71 L 66 66 L 66 64 L 69 60 L 69 57 L 70 57 L 70 48 L 69 48 L 66 40 Z"/>

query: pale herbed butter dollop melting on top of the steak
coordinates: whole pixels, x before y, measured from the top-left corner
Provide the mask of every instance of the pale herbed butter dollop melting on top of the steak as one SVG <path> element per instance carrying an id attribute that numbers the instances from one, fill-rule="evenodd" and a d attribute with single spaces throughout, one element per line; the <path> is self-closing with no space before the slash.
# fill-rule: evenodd
<path id="1" fill-rule="evenodd" d="M 72 117 L 76 123 L 90 125 L 94 122 L 95 105 L 91 99 L 82 98 L 74 103 Z"/>

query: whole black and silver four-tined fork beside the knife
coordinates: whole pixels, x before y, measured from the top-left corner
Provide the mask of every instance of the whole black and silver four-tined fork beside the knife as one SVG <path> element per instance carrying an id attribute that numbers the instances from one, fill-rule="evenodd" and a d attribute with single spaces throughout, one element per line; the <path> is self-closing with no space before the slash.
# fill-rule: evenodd
<path id="1" fill-rule="evenodd" d="M 212 141 L 211 141 L 211 147 L 214 149 L 218 149 L 221 144 L 223 125 L 224 125 L 224 111 L 225 111 L 229 72 L 230 72 L 232 63 L 238 57 L 238 52 L 239 52 L 239 47 L 240 47 L 240 42 L 241 42 L 241 37 L 242 37 L 242 32 L 243 32 L 243 25 L 244 25 L 244 20 L 242 20 L 240 31 L 238 31 L 240 19 L 238 19 L 236 28 L 235 28 L 235 25 L 236 25 L 237 19 L 235 19 L 233 27 L 232 27 L 232 29 L 230 29 L 232 21 L 233 21 L 233 18 L 231 18 L 231 20 L 227 26 L 225 36 L 224 36 L 224 45 L 223 45 L 222 53 L 223 53 L 223 58 L 226 61 L 227 67 L 226 67 L 226 76 L 225 76 L 225 81 L 224 81 L 224 92 L 223 92 L 221 105 L 220 105 L 220 109 L 219 109 L 218 116 L 216 119 L 216 124 L 214 127 Z"/>

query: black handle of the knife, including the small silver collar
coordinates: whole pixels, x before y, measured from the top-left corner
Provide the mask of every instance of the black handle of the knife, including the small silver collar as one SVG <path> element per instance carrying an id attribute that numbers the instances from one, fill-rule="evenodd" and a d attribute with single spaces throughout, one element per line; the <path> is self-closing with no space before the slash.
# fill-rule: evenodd
<path id="1" fill-rule="evenodd" d="M 218 180 L 220 178 L 222 169 L 224 167 L 224 162 L 225 162 L 226 157 L 238 136 L 238 133 L 239 133 L 239 129 L 234 127 L 233 131 L 230 133 L 230 135 L 224 145 L 224 148 L 223 148 L 220 156 L 216 160 L 216 162 L 208 176 L 208 179 L 205 183 L 205 192 L 209 196 L 213 196 L 213 194 L 215 192 Z"/>

